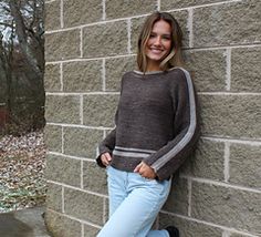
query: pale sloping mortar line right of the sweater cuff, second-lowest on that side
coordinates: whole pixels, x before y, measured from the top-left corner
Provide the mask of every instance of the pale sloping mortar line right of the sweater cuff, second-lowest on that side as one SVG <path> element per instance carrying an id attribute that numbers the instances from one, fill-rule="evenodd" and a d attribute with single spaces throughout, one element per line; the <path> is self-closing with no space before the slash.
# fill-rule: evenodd
<path id="1" fill-rule="evenodd" d="M 192 182 L 198 182 L 198 183 L 203 183 L 203 184 L 209 184 L 209 185 L 217 185 L 217 186 L 221 186 L 221 187 L 228 187 L 228 188 L 233 188 L 233 189 L 261 194 L 261 189 L 259 189 L 259 188 L 244 187 L 244 186 L 234 185 L 234 184 L 231 185 L 231 184 L 223 183 L 223 182 L 217 182 L 217 181 L 207 179 L 207 178 L 192 177 L 192 176 L 188 176 L 188 175 L 180 175 L 180 177 L 181 178 L 191 178 Z"/>

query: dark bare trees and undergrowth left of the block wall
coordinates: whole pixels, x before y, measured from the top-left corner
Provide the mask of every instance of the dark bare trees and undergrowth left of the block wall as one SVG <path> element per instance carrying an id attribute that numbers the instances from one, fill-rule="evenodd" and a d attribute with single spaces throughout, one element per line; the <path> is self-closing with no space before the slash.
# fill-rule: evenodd
<path id="1" fill-rule="evenodd" d="M 25 124 L 30 130 L 44 125 L 43 4 L 43 0 L 0 2 L 0 13 L 3 16 L 0 18 L 0 70 L 4 71 L 2 75 L 7 84 L 6 103 L 12 115 L 12 122 L 19 125 Z M 34 101 L 31 103 L 33 112 L 24 111 L 22 116 L 21 113 L 17 113 L 21 110 L 18 102 L 21 97 L 28 104 Z"/>

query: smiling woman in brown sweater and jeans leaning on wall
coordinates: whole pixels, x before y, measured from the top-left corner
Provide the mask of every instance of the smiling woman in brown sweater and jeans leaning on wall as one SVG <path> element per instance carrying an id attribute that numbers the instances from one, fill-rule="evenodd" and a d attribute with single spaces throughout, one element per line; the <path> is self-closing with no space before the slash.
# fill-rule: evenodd
<path id="1" fill-rule="evenodd" d="M 100 144 L 106 167 L 109 219 L 98 237 L 178 237 L 150 230 L 166 202 L 171 175 L 198 138 L 194 85 L 181 65 L 182 33 L 166 12 L 150 14 L 139 34 L 139 71 L 124 74 L 116 127 Z"/>

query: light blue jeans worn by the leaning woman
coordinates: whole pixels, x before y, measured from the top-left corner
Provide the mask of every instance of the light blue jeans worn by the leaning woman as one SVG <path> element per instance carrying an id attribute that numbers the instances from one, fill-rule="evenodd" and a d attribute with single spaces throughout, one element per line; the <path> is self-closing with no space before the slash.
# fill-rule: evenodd
<path id="1" fill-rule="evenodd" d="M 170 181 L 147 179 L 137 173 L 107 167 L 109 219 L 97 237 L 169 237 L 150 230 L 166 202 Z"/>

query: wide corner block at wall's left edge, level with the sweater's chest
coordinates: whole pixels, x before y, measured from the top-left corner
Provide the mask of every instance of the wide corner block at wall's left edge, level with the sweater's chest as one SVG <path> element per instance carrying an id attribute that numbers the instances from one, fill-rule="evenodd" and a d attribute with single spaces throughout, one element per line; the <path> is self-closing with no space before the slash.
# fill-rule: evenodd
<path id="1" fill-rule="evenodd" d="M 53 123 L 80 123 L 80 96 L 46 95 L 45 118 Z"/>

